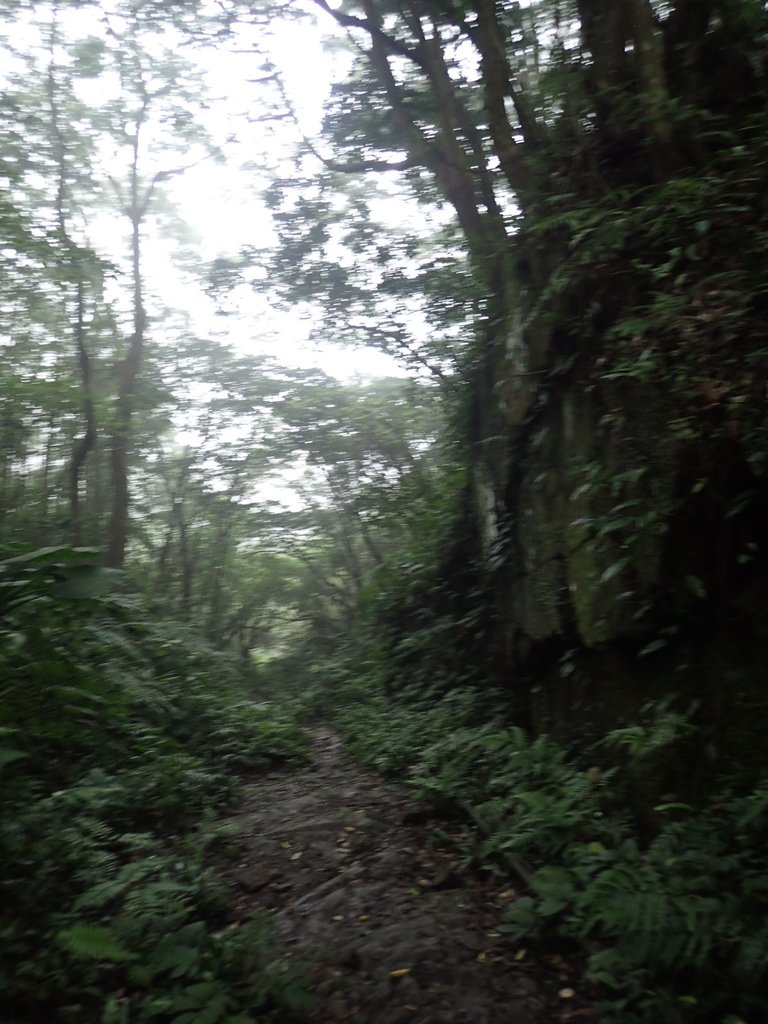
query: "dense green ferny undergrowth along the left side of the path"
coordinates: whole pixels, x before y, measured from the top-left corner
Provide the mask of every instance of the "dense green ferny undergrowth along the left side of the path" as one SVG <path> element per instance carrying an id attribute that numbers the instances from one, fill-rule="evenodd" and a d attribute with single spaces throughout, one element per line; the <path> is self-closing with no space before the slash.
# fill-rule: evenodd
<path id="1" fill-rule="evenodd" d="M 27 1021 L 292 1019 L 299 979 L 265 921 L 231 919 L 205 850 L 238 773 L 303 758 L 304 734 L 104 582 L 87 551 L 0 562 L 0 1000 Z"/>

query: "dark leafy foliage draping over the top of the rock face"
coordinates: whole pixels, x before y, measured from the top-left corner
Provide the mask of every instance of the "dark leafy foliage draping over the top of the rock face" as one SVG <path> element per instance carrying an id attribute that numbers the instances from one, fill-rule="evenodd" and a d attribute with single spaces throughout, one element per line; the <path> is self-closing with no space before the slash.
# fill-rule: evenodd
<path id="1" fill-rule="evenodd" d="M 589 295 L 568 330 L 581 336 L 592 387 L 663 387 L 671 394 L 674 437 L 738 438 L 760 474 L 765 428 L 754 399 L 768 357 L 760 298 L 767 127 L 764 115 L 738 126 L 710 118 L 701 126 L 702 141 L 713 136 L 707 173 L 607 189 L 583 205 L 572 195 L 550 197 L 549 215 L 532 233 L 565 233 L 567 247 L 529 313 L 534 318 L 574 289 Z M 594 286 L 605 279 L 610 293 Z M 596 334 L 605 344 L 596 344 Z"/>

